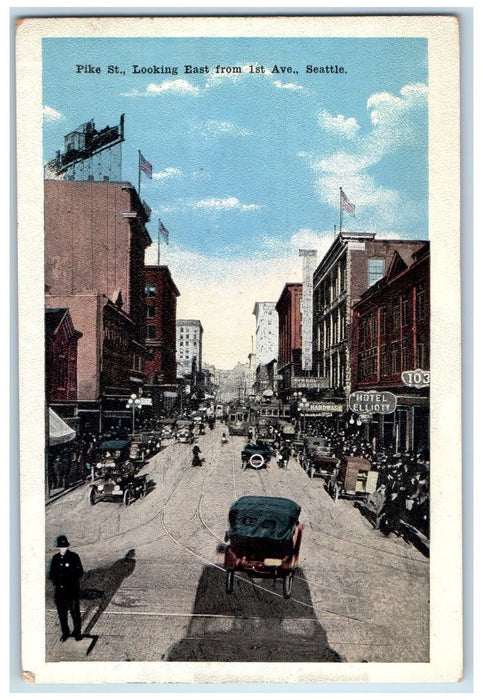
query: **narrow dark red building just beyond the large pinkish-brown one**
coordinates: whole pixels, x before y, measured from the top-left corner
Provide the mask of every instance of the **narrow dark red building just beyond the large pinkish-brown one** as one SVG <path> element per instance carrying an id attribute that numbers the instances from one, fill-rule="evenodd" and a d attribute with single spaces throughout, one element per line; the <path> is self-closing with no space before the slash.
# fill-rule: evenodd
<path id="1" fill-rule="evenodd" d="M 145 268 L 146 359 L 150 384 L 176 384 L 176 301 L 180 293 L 166 265 Z"/>

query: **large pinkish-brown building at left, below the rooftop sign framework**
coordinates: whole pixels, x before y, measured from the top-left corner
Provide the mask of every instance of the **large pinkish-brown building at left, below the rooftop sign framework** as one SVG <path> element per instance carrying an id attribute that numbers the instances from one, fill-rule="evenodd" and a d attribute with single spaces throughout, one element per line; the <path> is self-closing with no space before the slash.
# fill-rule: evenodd
<path id="1" fill-rule="evenodd" d="M 82 333 L 79 415 L 104 428 L 144 382 L 148 215 L 128 182 L 45 180 L 44 220 L 45 305 Z"/>

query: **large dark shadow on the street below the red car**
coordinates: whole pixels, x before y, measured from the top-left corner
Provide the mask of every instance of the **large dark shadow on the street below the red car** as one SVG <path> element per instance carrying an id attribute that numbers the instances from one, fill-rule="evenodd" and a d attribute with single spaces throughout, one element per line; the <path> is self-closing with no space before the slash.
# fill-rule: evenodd
<path id="1" fill-rule="evenodd" d="M 186 637 L 171 647 L 167 661 L 344 661 L 328 644 L 301 569 L 289 599 L 282 597 L 280 579 L 244 574 L 235 576 L 228 595 L 225 576 L 204 567 Z"/>

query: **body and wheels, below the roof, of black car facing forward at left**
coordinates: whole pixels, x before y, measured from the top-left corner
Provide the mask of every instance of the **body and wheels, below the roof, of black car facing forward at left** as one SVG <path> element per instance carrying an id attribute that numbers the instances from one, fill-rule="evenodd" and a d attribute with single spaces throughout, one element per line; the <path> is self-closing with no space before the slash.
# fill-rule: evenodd
<path id="1" fill-rule="evenodd" d="M 128 506 L 147 492 L 147 475 L 137 475 L 135 465 L 125 462 L 102 468 L 98 479 L 89 485 L 89 503 L 93 506 L 99 501 L 122 501 Z"/>

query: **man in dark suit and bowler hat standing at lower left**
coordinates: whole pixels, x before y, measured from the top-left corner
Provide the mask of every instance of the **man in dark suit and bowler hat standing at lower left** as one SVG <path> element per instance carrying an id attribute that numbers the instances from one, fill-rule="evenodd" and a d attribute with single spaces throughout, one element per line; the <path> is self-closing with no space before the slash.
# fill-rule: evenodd
<path id="1" fill-rule="evenodd" d="M 68 613 L 72 616 L 73 636 L 77 641 L 82 639 L 81 615 L 79 607 L 79 581 L 84 573 L 80 557 L 71 552 L 69 541 L 65 535 L 57 537 L 58 553 L 54 554 L 50 563 L 49 578 L 55 586 L 55 605 L 59 614 L 62 629 L 61 642 L 70 637 Z"/>

